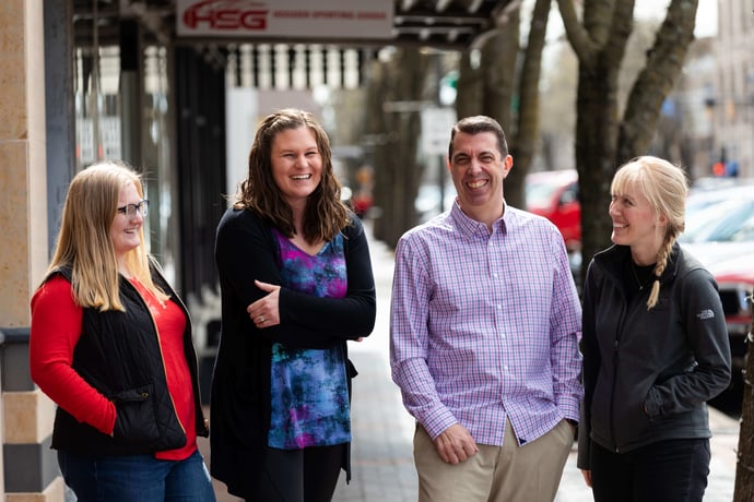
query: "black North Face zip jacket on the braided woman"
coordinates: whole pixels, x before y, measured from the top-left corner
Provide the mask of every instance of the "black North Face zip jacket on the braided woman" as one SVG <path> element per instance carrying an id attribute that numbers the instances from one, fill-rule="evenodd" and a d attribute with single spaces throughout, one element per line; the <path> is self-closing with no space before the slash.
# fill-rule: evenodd
<path id="1" fill-rule="evenodd" d="M 706 402 L 731 378 L 717 283 L 674 244 L 660 296 L 633 299 L 623 271 L 626 246 L 594 255 L 584 289 L 584 387 L 578 467 L 590 469 L 590 441 L 616 453 L 670 439 L 709 438 Z"/>

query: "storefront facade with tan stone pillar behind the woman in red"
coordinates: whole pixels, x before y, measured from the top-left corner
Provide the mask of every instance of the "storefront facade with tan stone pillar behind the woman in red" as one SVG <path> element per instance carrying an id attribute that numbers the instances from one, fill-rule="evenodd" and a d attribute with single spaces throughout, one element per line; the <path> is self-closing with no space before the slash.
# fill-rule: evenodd
<path id="1" fill-rule="evenodd" d="M 286 4 L 317 5 L 296 1 Z M 347 2 L 394 4 L 403 15 L 390 17 L 392 38 L 363 44 L 357 33 L 316 45 L 288 33 L 254 43 L 179 40 L 176 9 L 187 1 L 0 1 L 0 500 L 67 499 L 49 447 L 55 405 L 28 372 L 28 302 L 78 170 L 110 157 L 143 170 L 155 208 L 146 223 L 151 251 L 181 296 L 201 302 L 216 283 L 214 230 L 233 186 L 228 88 L 358 86 L 374 47 L 468 47 L 508 1 L 449 0 L 435 11 L 420 1 Z"/>

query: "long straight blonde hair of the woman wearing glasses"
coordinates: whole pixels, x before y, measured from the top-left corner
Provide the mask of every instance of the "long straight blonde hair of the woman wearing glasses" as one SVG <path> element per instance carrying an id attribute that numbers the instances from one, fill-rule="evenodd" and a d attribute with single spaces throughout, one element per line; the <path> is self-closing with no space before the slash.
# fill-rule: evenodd
<path id="1" fill-rule="evenodd" d="M 73 299 L 83 308 L 125 311 L 120 302 L 118 263 L 110 226 L 117 215 L 120 190 L 133 183 L 144 198 L 141 176 L 123 163 L 106 160 L 76 174 L 71 180 L 63 205 L 55 254 L 47 270 L 47 280 L 59 268 L 70 266 Z M 129 271 L 160 301 L 168 296 L 152 280 L 150 259 L 144 244 L 126 254 Z"/>

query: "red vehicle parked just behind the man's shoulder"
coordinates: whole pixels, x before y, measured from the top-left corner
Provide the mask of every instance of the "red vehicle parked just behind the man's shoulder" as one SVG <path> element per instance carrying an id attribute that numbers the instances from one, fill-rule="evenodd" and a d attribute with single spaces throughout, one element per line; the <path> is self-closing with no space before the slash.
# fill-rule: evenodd
<path id="1" fill-rule="evenodd" d="M 569 252 L 581 248 L 581 205 L 576 169 L 528 174 L 525 195 L 527 211 L 554 223 Z"/>

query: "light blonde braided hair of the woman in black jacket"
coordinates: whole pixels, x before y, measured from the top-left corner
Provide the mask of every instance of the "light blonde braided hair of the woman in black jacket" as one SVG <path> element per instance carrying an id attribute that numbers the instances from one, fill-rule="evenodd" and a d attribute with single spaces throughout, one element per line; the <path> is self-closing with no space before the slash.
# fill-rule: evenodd
<path id="1" fill-rule="evenodd" d="M 625 193 L 631 186 L 638 189 L 649 201 L 656 216 L 668 218 L 662 244 L 657 253 L 655 280 L 647 300 L 647 309 L 657 304 L 660 295 L 660 276 L 668 266 L 668 260 L 679 235 L 685 229 L 686 195 L 688 180 L 685 171 L 659 157 L 636 157 L 623 165 L 613 177 L 610 191 Z"/>

